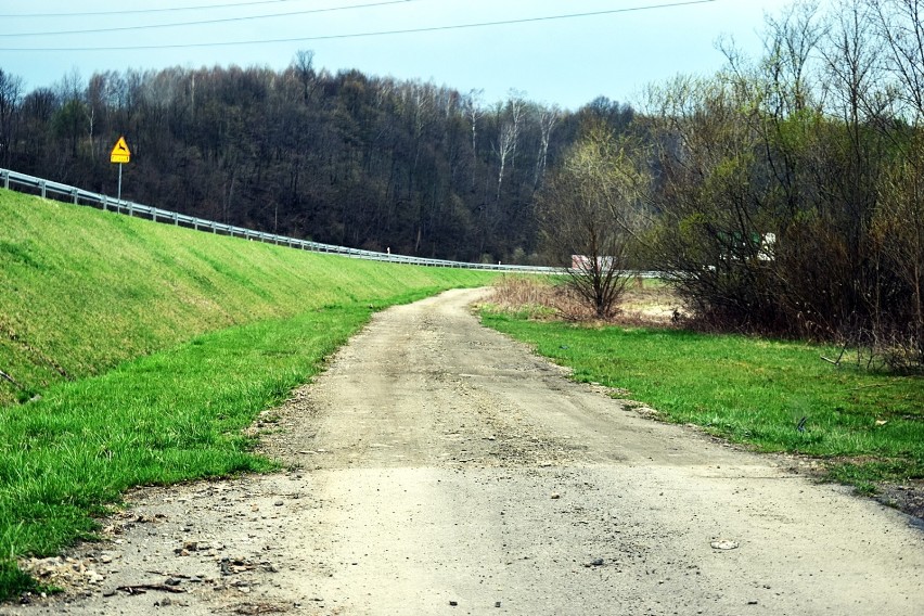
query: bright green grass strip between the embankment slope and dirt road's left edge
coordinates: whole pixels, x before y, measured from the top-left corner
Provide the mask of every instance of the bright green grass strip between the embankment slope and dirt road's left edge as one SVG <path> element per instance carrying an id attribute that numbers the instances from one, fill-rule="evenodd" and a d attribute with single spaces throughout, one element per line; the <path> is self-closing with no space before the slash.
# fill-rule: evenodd
<path id="1" fill-rule="evenodd" d="M 0 410 L 0 549 L 54 553 L 131 486 L 271 469 L 243 428 L 370 313 L 354 304 L 205 334 Z"/>

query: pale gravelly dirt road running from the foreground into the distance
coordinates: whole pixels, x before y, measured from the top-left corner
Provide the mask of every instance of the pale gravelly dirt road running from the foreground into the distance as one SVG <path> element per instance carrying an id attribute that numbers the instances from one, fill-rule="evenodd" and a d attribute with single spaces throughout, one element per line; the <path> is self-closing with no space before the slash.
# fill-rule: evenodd
<path id="1" fill-rule="evenodd" d="M 567 381 L 475 296 L 376 316 L 268 413 L 296 470 L 139 491 L 44 564 L 84 592 L 0 614 L 922 613 L 912 518 Z"/>

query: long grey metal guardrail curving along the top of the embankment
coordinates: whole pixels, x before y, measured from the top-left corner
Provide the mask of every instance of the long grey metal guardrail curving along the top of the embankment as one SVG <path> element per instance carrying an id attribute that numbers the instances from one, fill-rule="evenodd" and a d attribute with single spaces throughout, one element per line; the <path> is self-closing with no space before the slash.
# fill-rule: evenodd
<path id="1" fill-rule="evenodd" d="M 142 205 L 131 201 L 113 198 L 107 195 L 97 194 L 84 189 L 27 176 L 10 169 L 0 168 L 0 184 L 7 190 L 33 190 L 36 191 L 42 198 L 54 198 L 55 201 L 65 201 L 74 205 L 87 205 L 100 207 L 106 211 L 117 214 L 127 214 L 128 216 L 142 216 L 150 218 L 154 222 L 172 223 L 195 229 L 196 231 L 210 231 L 211 233 L 221 233 L 232 238 L 242 238 L 245 240 L 277 244 L 280 246 L 288 246 L 290 248 L 298 248 L 301 251 L 310 251 L 315 253 L 330 253 L 351 257 L 356 259 L 368 259 L 373 261 L 385 261 L 393 264 L 407 264 L 426 267 L 440 268 L 461 268 L 476 269 L 489 271 L 504 271 L 511 273 L 546 273 L 559 274 L 566 271 L 564 268 L 540 267 L 540 266 L 517 266 L 505 264 L 470 264 L 464 261 L 450 261 L 445 259 L 427 259 L 423 257 L 410 257 L 406 255 L 394 255 L 390 253 L 376 253 L 374 251 L 361 251 L 359 248 L 347 248 L 346 246 L 335 246 L 332 244 L 322 244 L 320 242 L 311 242 L 309 240 L 297 240 L 285 235 L 277 235 L 274 233 L 266 233 L 262 231 L 254 231 L 244 229 L 243 227 L 234 227 L 214 220 L 206 220 L 195 216 L 188 216 L 177 211 L 161 209 L 150 205 Z M 16 188 L 14 188 L 16 187 Z M 638 278 L 658 278 L 658 272 L 627 272 Z"/>

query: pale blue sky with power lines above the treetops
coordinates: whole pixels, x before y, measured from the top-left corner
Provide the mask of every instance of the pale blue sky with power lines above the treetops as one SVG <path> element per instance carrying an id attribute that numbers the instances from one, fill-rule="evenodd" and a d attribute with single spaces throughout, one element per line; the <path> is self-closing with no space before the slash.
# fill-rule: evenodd
<path id="1" fill-rule="evenodd" d="M 316 68 L 419 79 L 486 104 L 512 91 L 577 110 L 708 75 L 722 37 L 752 56 L 791 0 L 0 0 L 0 68 L 25 91 L 169 66 Z M 490 25 L 485 25 L 490 24 Z"/>

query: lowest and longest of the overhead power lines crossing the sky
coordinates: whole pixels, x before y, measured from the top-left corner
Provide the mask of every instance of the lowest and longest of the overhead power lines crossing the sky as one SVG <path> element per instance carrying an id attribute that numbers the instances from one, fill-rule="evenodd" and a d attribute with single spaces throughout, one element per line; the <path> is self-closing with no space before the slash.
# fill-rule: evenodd
<path id="1" fill-rule="evenodd" d="M 380 36 L 396 36 L 419 33 L 435 33 L 446 30 L 458 30 L 469 28 L 483 28 L 490 26 L 508 26 L 514 24 L 529 24 L 538 22 L 552 22 L 559 20 L 572 20 L 580 17 L 594 17 L 601 15 L 613 15 L 617 13 L 636 13 L 640 11 L 654 11 L 662 9 L 675 9 L 679 7 L 689 7 L 693 4 L 709 4 L 718 0 L 686 0 L 680 2 L 667 2 L 663 4 L 646 4 L 641 7 L 627 7 L 624 9 L 609 9 L 606 11 L 592 11 L 588 13 L 566 13 L 562 15 L 547 15 L 542 17 L 522 17 L 517 20 L 503 20 L 498 22 L 478 22 L 472 24 L 453 24 L 448 26 L 428 26 L 422 28 L 407 28 L 397 30 L 377 30 L 368 33 L 350 33 L 342 35 L 321 35 L 313 37 L 293 37 L 280 39 L 260 39 L 260 40 L 243 40 L 243 41 L 219 41 L 219 42 L 188 42 L 188 43 L 170 43 L 170 44 L 136 44 L 136 46 L 113 46 L 113 47 L 59 47 L 59 48 L 0 48 L 0 51 L 133 51 L 133 50 L 150 50 L 150 49 L 193 49 L 205 47 L 232 47 L 232 46 L 249 46 L 249 44 L 271 44 L 283 42 L 306 42 L 319 40 L 336 40 L 350 38 L 367 38 Z"/>

